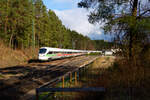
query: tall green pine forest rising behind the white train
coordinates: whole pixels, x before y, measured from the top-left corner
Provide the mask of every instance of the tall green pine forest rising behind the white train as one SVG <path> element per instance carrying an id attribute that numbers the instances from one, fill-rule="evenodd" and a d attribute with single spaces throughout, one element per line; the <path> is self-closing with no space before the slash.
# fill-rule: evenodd
<path id="1" fill-rule="evenodd" d="M 96 48 L 89 37 L 66 28 L 42 0 L 0 0 L 0 11 L 0 39 L 10 48 Z"/>

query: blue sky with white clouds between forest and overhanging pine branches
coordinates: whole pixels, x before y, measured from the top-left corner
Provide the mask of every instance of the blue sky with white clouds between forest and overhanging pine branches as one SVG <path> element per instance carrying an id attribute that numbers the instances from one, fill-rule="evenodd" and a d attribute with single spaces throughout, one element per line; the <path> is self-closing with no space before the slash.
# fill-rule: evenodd
<path id="1" fill-rule="evenodd" d="M 75 30 L 92 40 L 110 40 L 111 36 L 106 36 L 100 30 L 100 25 L 93 25 L 88 22 L 88 10 L 78 8 L 77 3 L 81 0 L 43 0 L 48 9 L 53 10 L 63 25 L 71 30 Z"/>

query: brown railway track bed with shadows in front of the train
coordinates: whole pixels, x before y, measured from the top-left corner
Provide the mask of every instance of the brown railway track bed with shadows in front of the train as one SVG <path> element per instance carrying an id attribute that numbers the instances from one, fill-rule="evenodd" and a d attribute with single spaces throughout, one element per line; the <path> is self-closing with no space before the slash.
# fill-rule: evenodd
<path id="1" fill-rule="evenodd" d="M 60 77 L 94 58 L 94 56 L 78 56 L 0 69 L 2 75 L 9 74 L 8 78 L 0 79 L 0 100 L 20 100 L 30 90 Z"/>

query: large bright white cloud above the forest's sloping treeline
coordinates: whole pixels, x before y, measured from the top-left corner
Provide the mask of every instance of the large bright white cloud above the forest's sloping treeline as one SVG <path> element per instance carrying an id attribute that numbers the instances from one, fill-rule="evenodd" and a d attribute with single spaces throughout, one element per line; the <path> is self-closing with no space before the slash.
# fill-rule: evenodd
<path id="1" fill-rule="evenodd" d="M 93 25 L 88 22 L 88 11 L 86 9 L 75 8 L 70 10 L 54 10 L 56 15 L 62 20 L 62 23 L 71 30 L 75 30 L 83 35 L 102 34 L 99 25 Z"/>

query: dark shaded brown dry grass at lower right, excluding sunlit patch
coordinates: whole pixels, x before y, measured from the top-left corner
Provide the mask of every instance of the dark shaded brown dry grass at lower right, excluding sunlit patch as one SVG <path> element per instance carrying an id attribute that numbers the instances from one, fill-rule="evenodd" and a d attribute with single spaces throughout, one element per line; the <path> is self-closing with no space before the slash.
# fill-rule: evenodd
<path id="1" fill-rule="evenodd" d="M 90 86 L 107 88 L 104 100 L 149 100 L 149 84 L 150 67 L 119 59 Z"/>

